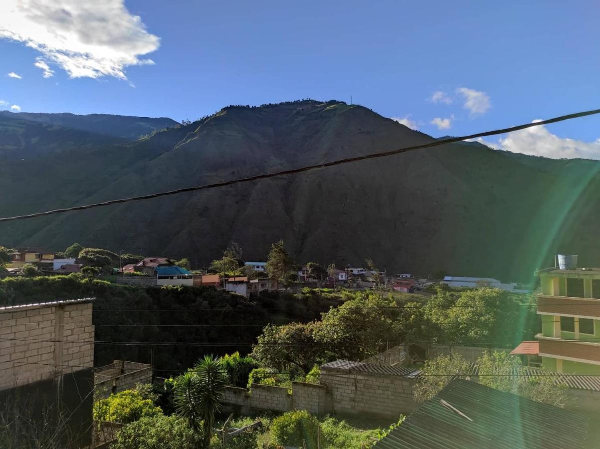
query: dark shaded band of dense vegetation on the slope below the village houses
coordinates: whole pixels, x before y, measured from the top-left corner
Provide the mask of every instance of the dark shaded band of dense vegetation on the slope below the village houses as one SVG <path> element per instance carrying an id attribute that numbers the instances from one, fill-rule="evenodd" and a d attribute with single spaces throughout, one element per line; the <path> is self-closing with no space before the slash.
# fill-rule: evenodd
<path id="1" fill-rule="evenodd" d="M 187 369 L 202 354 L 239 351 L 245 355 L 263 325 L 308 322 L 340 304 L 335 294 L 275 293 L 247 300 L 210 287 L 139 288 L 77 274 L 0 280 L 2 305 L 86 297 L 96 298 L 95 364 L 102 366 L 115 359 L 152 361 L 156 374 L 162 376 Z"/>

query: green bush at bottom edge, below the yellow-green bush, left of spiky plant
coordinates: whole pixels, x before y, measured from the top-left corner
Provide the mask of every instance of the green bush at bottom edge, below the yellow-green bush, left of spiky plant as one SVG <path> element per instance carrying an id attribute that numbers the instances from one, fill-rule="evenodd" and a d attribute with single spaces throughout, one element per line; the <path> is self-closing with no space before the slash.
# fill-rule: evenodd
<path id="1" fill-rule="evenodd" d="M 111 449 L 196 449 L 200 440 L 181 418 L 157 415 L 124 426 Z"/>

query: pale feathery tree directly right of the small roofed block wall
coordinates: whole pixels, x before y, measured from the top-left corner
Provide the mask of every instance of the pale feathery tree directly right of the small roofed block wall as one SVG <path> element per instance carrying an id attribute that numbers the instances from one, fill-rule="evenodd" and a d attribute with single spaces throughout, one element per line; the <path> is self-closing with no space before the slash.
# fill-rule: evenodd
<path id="1" fill-rule="evenodd" d="M 439 355 L 425 361 L 416 382 L 415 400 L 425 402 L 436 396 L 456 377 L 469 375 L 469 363 L 460 354 Z"/>

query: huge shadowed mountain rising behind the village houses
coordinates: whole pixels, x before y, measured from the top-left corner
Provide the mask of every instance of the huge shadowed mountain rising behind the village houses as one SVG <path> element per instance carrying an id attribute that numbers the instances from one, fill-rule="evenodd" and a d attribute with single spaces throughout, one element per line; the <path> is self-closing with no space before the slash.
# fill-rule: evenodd
<path id="1" fill-rule="evenodd" d="M 229 106 L 142 139 L 0 164 L 2 215 L 241 178 L 431 142 L 339 101 Z M 5 246 L 85 246 L 187 257 L 203 266 L 235 241 L 264 260 L 283 239 L 299 262 L 388 273 L 530 280 L 555 252 L 598 264 L 597 172 L 461 143 L 143 202 L 0 223 Z M 18 188 L 16 188 L 18 186 Z"/>

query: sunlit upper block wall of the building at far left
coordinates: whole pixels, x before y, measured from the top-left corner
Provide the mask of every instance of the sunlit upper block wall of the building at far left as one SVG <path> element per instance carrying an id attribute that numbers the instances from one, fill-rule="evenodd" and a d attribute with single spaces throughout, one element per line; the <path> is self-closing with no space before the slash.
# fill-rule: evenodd
<path id="1" fill-rule="evenodd" d="M 94 366 L 91 301 L 0 309 L 0 390 Z"/>

